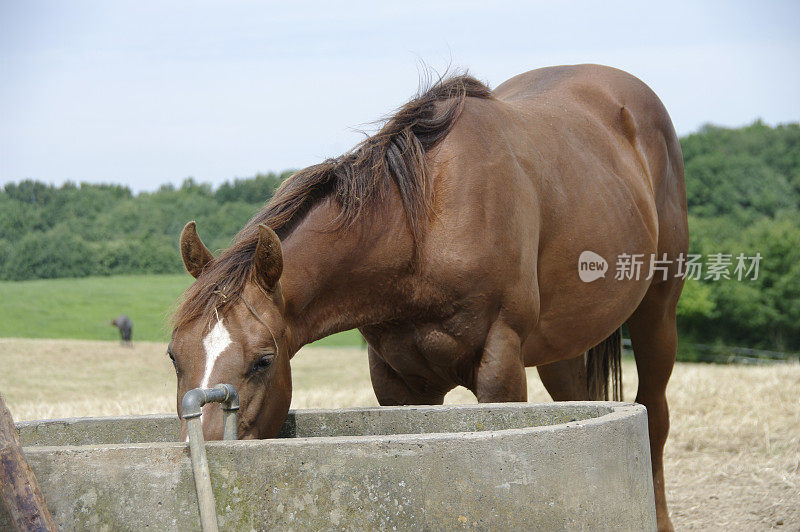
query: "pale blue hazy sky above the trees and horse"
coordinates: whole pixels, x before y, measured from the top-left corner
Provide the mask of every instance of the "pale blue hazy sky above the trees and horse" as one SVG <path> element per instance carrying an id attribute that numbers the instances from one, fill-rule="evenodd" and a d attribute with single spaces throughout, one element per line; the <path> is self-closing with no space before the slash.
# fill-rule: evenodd
<path id="1" fill-rule="evenodd" d="M 679 134 L 800 120 L 799 2 L 0 0 L 0 184 L 193 176 L 339 155 L 420 64 L 497 86 L 541 66 L 628 70 Z"/>

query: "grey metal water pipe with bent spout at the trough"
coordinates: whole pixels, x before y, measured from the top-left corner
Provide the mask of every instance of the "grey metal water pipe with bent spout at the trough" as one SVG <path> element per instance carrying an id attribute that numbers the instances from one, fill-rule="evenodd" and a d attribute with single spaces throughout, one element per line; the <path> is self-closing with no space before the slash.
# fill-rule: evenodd
<path id="1" fill-rule="evenodd" d="M 197 504 L 200 508 L 200 526 L 203 532 L 217 532 L 216 501 L 211 489 L 211 474 L 208 470 L 203 424 L 200 418 L 203 405 L 207 403 L 221 403 L 222 439 L 235 440 L 238 436 L 239 394 L 231 384 L 217 384 L 213 388 L 189 390 L 181 400 L 181 417 L 186 420 L 194 487 L 197 491 Z"/>

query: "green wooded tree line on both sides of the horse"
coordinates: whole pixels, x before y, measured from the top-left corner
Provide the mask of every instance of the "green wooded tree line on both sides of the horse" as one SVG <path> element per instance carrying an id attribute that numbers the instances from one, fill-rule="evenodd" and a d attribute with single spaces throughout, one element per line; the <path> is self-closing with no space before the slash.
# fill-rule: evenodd
<path id="1" fill-rule="evenodd" d="M 755 280 L 686 281 L 681 338 L 800 350 L 800 125 L 708 125 L 681 146 L 690 253 L 761 256 Z M 216 189 L 189 178 L 136 195 L 120 185 L 9 183 L 0 190 L 0 279 L 181 272 L 177 237 L 188 220 L 222 249 L 290 174 Z"/>

